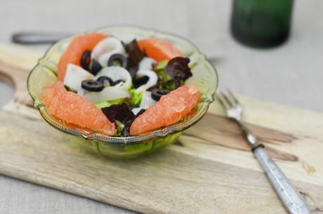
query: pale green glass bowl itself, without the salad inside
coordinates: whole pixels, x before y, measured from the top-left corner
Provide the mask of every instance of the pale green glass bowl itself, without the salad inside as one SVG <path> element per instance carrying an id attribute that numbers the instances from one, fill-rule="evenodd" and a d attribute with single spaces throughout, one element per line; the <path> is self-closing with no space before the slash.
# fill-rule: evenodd
<path id="1" fill-rule="evenodd" d="M 129 137 L 107 136 L 91 130 L 85 130 L 72 124 L 62 123 L 62 121 L 53 118 L 46 111 L 44 104 L 41 102 L 41 88 L 57 81 L 56 72 L 58 61 L 70 44 L 70 41 L 74 38 L 74 36 L 71 36 L 53 44 L 44 57 L 39 60 L 39 63 L 32 69 L 28 76 L 27 88 L 34 100 L 34 106 L 39 109 L 39 113 L 45 121 L 62 133 L 66 133 L 72 141 L 78 143 L 81 147 L 105 156 L 133 158 L 171 145 L 176 141 L 182 131 L 193 126 L 206 114 L 209 105 L 213 102 L 213 94 L 216 92 L 218 86 L 218 75 L 213 65 L 189 41 L 179 36 L 152 29 L 123 25 L 105 27 L 91 32 L 109 34 L 124 42 L 130 42 L 134 38 L 145 39 L 152 37 L 170 41 L 186 57 L 190 58 L 193 76 L 187 79 L 187 83 L 192 83 L 197 86 L 202 98 L 199 100 L 197 107 L 178 123 L 159 128 L 144 135 L 133 135 Z"/>

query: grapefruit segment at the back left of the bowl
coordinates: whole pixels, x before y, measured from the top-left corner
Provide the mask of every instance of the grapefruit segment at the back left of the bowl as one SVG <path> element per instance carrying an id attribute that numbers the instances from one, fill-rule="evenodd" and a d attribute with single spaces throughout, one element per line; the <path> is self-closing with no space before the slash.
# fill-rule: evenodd
<path id="1" fill-rule="evenodd" d="M 81 65 L 81 56 L 84 51 L 92 51 L 99 41 L 107 38 L 106 34 L 91 33 L 75 37 L 58 62 L 58 80 L 63 81 L 67 64 Z"/>

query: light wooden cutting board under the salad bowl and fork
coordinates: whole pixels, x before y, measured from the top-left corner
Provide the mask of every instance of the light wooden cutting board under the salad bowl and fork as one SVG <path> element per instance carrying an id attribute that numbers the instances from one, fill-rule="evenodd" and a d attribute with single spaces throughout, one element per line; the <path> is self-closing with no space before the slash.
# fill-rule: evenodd
<path id="1" fill-rule="evenodd" d="M 242 133 L 217 104 L 176 145 L 138 159 L 75 146 L 32 107 L 26 78 L 42 52 L 0 45 L 0 79 L 16 88 L 0 110 L 0 173 L 140 213 L 286 213 Z M 239 96 L 249 128 L 323 213 L 323 114 Z"/>

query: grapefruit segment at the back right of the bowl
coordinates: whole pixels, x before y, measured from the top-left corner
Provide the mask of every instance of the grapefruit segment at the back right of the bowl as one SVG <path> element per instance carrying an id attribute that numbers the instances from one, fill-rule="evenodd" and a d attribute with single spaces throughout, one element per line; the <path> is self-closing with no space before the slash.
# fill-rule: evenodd
<path id="1" fill-rule="evenodd" d="M 141 51 L 145 51 L 148 57 L 157 62 L 184 56 L 176 46 L 164 39 L 143 39 L 138 41 L 138 44 Z"/>

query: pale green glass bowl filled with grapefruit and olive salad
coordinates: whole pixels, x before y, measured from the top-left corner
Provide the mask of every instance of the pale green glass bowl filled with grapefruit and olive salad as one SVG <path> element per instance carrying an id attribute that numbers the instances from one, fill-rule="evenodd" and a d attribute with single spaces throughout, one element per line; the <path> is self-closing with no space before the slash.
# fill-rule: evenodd
<path id="1" fill-rule="evenodd" d="M 28 78 L 41 116 L 99 154 L 135 157 L 202 119 L 218 79 L 185 39 L 107 27 L 54 44 Z"/>

